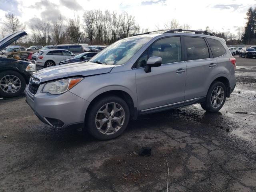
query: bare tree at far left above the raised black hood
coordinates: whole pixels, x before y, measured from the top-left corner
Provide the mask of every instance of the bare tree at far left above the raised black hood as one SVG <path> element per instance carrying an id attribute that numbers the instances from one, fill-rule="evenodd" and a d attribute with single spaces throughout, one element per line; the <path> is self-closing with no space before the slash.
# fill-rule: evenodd
<path id="1" fill-rule="evenodd" d="M 4 29 L 4 32 L 6 32 L 7 34 L 12 34 L 18 31 L 25 30 L 26 25 L 22 24 L 16 15 L 12 13 L 8 13 L 8 14 L 5 14 L 3 29 Z M 23 40 L 24 38 L 21 38 L 20 40 Z M 17 44 L 17 41 L 15 41 L 15 44 Z"/>

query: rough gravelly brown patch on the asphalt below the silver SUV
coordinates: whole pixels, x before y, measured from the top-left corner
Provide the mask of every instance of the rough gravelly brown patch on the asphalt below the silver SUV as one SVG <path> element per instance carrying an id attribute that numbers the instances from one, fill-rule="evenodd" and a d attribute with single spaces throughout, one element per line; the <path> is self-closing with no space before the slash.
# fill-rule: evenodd
<path id="1" fill-rule="evenodd" d="M 103 164 L 103 170 L 112 182 L 143 183 L 156 182 L 161 176 L 167 178 L 168 162 L 170 173 L 184 162 L 184 153 L 178 149 L 152 148 L 151 156 L 139 156 L 139 148 L 116 155 Z M 160 176 L 161 175 L 161 176 Z"/>

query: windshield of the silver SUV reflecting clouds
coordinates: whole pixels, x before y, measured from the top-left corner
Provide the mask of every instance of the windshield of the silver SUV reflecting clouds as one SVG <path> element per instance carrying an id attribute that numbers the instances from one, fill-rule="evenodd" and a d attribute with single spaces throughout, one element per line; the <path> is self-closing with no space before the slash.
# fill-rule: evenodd
<path id="1" fill-rule="evenodd" d="M 90 62 L 107 65 L 125 64 L 151 38 L 127 38 L 119 40 L 98 53 Z"/>

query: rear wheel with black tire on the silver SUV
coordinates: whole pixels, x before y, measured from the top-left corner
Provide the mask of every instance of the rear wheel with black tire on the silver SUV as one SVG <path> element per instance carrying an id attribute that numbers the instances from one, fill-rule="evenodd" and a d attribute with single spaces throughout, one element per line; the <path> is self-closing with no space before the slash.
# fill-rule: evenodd
<path id="1" fill-rule="evenodd" d="M 218 93 L 220 95 L 218 95 Z M 213 82 L 213 84 L 210 86 L 208 93 L 206 95 L 206 100 L 203 103 L 201 103 L 201 107 L 207 112 L 217 112 L 224 105 L 226 101 L 226 95 L 227 95 L 226 86 L 219 81 Z"/>

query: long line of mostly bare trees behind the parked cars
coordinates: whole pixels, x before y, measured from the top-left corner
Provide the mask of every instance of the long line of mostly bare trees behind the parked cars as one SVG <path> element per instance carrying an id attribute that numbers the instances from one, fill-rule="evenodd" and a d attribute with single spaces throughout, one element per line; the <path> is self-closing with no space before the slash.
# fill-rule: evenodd
<path id="1" fill-rule="evenodd" d="M 250 7 L 246 13 L 246 26 L 238 27 L 237 34 L 230 31 L 218 32 L 206 26 L 205 30 L 212 32 L 215 36 L 224 38 L 227 44 L 256 44 L 256 7 Z M 0 36 L 12 34 L 20 30 L 26 30 L 27 26 L 22 24 L 17 16 L 12 13 L 5 15 L 3 26 L 0 28 Z M 189 24 L 180 24 L 178 20 L 172 19 L 162 26 L 155 26 L 155 30 L 162 29 L 190 29 Z M 141 28 L 136 24 L 135 18 L 127 12 L 118 14 L 109 10 L 86 10 L 80 18 L 74 13 L 73 18 L 63 18 L 58 16 L 55 21 L 47 22 L 37 20 L 30 26 L 30 36 L 19 40 L 19 44 L 30 45 L 50 45 L 50 44 L 70 44 L 88 43 L 109 45 L 113 42 L 132 36 L 134 34 L 148 32 L 148 29 Z M 15 42 L 16 44 L 17 42 Z"/>

